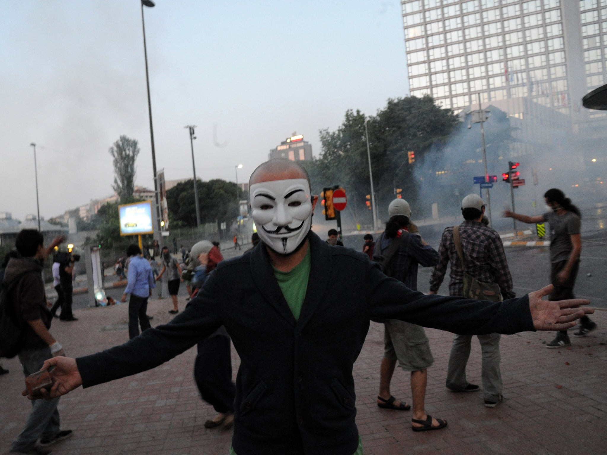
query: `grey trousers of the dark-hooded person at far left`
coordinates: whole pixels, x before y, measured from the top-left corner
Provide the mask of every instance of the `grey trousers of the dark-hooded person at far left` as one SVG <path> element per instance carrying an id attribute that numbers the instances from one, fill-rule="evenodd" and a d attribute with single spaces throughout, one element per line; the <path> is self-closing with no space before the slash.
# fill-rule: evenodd
<path id="1" fill-rule="evenodd" d="M 53 355 L 50 353 L 50 348 L 19 352 L 23 374 L 29 376 L 39 371 L 44 360 L 51 357 Z M 25 428 L 10 445 L 10 450 L 13 452 L 27 452 L 36 446 L 39 438 L 50 439 L 56 436 L 61 431 L 59 411 L 57 411 L 58 403 L 58 397 L 49 401 L 32 400 L 32 412 L 27 418 L 27 422 L 25 422 Z"/>

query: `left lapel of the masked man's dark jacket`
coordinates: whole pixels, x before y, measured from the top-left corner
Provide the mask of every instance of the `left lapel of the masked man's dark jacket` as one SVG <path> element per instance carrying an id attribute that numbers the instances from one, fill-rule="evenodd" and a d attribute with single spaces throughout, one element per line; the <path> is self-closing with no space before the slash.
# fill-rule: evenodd
<path id="1" fill-rule="evenodd" d="M 282 318 L 291 326 L 295 326 L 297 321 L 287 305 L 285 297 L 282 295 L 278 281 L 274 276 L 274 269 L 270 263 L 270 256 L 263 243 L 251 252 L 251 274 L 259 292 L 270 303 Z"/>

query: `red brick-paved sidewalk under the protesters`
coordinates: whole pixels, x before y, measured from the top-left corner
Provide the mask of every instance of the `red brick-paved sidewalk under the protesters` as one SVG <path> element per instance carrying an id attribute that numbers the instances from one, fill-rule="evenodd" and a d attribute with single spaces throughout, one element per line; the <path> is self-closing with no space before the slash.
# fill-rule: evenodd
<path id="1" fill-rule="evenodd" d="M 180 309 L 185 302 L 180 299 Z M 153 325 L 168 322 L 168 300 L 152 300 Z M 83 356 L 126 342 L 127 305 L 80 310 L 78 322 L 53 321 L 53 335 L 69 356 Z M 483 406 L 482 393 L 454 394 L 444 388 L 452 334 L 427 329 L 435 365 L 429 369 L 427 411 L 449 421 L 445 430 L 413 433 L 410 411 L 375 404 L 383 328 L 371 323 L 354 365 L 358 428 L 367 455 L 504 454 L 574 455 L 607 453 L 607 312 L 592 317 L 599 328 L 584 339 L 571 337 L 565 349 L 546 349 L 551 332 L 502 338 L 504 402 Z M 207 430 L 214 416 L 192 377 L 195 348 L 151 371 L 61 399 L 61 426 L 72 439 L 53 448 L 58 455 L 149 454 L 226 455 L 231 431 Z M 473 342 L 468 377 L 480 383 L 480 347 Z M 0 453 L 21 431 L 30 403 L 21 397 L 23 375 L 17 359 L 2 360 Z M 233 352 L 236 377 L 239 360 Z M 561 386 L 561 387 L 557 387 Z M 396 371 L 392 393 L 410 402 L 409 375 Z M 246 454 L 243 454 L 246 455 Z"/>

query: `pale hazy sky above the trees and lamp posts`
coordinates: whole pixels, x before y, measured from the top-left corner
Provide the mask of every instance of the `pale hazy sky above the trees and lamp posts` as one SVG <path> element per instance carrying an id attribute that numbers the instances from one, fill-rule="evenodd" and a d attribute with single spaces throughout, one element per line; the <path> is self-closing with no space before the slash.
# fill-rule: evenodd
<path id="1" fill-rule="evenodd" d="M 153 187 L 138 0 L 0 0 L 0 211 L 49 218 L 112 194 L 108 148 L 140 142 L 136 184 Z M 345 110 L 373 114 L 408 93 L 398 0 L 157 0 L 146 8 L 158 169 L 248 180 L 296 131 Z M 217 140 L 213 144 L 213 125 Z"/>

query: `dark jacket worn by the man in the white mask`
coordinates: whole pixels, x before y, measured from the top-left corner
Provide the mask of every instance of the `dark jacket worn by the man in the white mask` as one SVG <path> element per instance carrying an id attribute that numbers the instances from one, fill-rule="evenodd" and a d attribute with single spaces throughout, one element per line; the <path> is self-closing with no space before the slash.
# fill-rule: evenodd
<path id="1" fill-rule="evenodd" d="M 311 233 L 311 270 L 299 320 L 263 244 L 223 261 L 170 323 L 76 359 L 89 387 L 154 368 L 222 324 L 241 363 L 232 445 L 238 455 L 352 455 L 358 447 L 352 368 L 373 318 L 460 334 L 534 330 L 527 297 L 501 303 L 424 295 L 388 278 L 366 254 Z"/>

